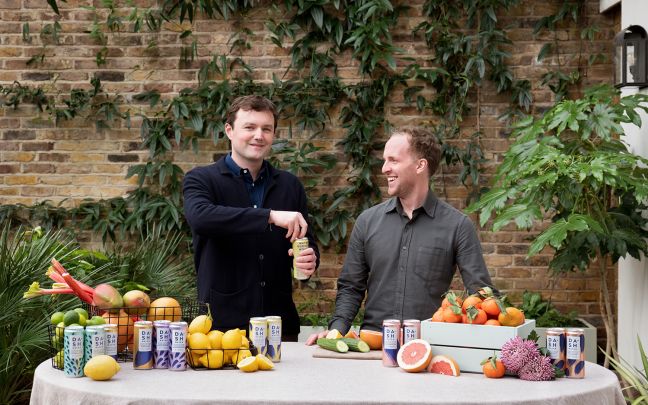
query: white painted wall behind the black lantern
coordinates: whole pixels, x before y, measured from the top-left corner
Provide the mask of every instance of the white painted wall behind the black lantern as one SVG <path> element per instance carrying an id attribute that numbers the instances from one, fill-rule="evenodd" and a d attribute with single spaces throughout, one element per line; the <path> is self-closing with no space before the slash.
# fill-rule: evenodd
<path id="1" fill-rule="evenodd" d="M 610 3 L 609 0 L 601 0 Z M 648 1 L 622 0 L 621 27 L 640 25 L 648 31 Z M 624 88 L 623 95 L 641 92 L 648 94 L 648 89 Z M 643 114 L 643 125 L 624 125 L 623 140 L 629 145 L 632 153 L 648 157 L 648 116 Z M 622 358 L 630 364 L 643 369 L 637 336 L 648 350 L 648 260 L 633 258 L 619 261 L 619 314 L 618 314 L 618 348 Z"/>

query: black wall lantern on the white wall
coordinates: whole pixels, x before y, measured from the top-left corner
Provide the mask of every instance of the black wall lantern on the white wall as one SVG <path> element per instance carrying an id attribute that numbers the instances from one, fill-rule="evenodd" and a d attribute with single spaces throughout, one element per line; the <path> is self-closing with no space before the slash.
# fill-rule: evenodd
<path id="1" fill-rule="evenodd" d="M 648 87 L 646 30 L 631 25 L 614 37 L 614 85 Z"/>

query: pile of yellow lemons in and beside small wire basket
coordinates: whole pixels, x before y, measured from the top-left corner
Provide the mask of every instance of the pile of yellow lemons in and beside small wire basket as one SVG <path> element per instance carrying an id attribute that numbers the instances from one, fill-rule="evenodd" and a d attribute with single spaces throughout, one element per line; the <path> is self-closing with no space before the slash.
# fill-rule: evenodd
<path id="1" fill-rule="evenodd" d="M 274 368 L 272 361 L 264 355 L 252 356 L 246 331 L 237 328 L 223 333 L 211 330 L 211 327 L 212 319 L 209 315 L 200 315 L 189 324 L 189 361 L 194 367 L 219 369 L 226 365 L 236 365 L 246 372 Z"/>

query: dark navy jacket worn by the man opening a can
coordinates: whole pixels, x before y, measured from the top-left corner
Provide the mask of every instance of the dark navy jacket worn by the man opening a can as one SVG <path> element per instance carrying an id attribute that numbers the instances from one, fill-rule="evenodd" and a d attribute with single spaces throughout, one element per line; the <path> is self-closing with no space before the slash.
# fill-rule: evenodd
<path id="1" fill-rule="evenodd" d="M 244 328 L 254 316 L 279 315 L 283 333 L 299 333 L 292 299 L 292 256 L 286 229 L 268 224 L 270 210 L 299 211 L 308 218 L 306 193 L 297 177 L 268 164 L 262 208 L 252 208 L 243 178 L 225 158 L 187 173 L 184 210 L 193 234 L 198 299 L 209 302 L 213 328 Z M 307 237 L 319 250 L 311 227 Z"/>

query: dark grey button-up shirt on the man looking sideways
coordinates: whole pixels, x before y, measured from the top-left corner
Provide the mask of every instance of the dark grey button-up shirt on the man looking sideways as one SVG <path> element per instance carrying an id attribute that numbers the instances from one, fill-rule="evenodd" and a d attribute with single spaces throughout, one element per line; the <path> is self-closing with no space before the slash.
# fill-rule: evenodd
<path id="1" fill-rule="evenodd" d="M 346 333 L 365 298 L 363 328 L 384 319 L 428 319 L 450 287 L 455 268 L 474 293 L 492 286 L 475 227 L 430 191 L 410 220 L 398 198 L 358 217 L 337 283 L 330 329 Z"/>

